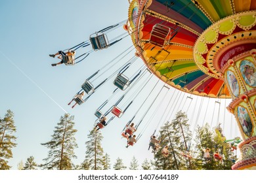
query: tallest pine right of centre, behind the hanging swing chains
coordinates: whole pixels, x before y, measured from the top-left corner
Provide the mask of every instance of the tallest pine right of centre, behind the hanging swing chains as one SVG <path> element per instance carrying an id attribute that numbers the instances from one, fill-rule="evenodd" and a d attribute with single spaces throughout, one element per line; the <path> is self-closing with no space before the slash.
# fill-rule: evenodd
<path id="1" fill-rule="evenodd" d="M 154 155 L 154 167 L 158 170 L 191 169 L 191 162 L 181 155 L 188 150 L 192 138 L 186 113 L 179 111 L 174 120 L 166 122 L 160 129 L 160 137 L 161 148 L 168 146 L 169 155 L 164 157 L 161 149 L 158 150 Z"/>

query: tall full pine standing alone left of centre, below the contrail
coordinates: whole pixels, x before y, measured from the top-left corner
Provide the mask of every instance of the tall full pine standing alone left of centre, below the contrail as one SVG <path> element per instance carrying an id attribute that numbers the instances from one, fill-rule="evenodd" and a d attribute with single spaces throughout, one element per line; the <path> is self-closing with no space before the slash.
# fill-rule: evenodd
<path id="1" fill-rule="evenodd" d="M 72 169 L 72 158 L 76 158 L 74 149 L 77 148 L 75 142 L 74 116 L 64 114 L 60 117 L 60 122 L 54 129 L 53 139 L 42 143 L 49 148 L 47 158 L 43 159 L 45 164 L 41 165 L 43 169 Z"/>

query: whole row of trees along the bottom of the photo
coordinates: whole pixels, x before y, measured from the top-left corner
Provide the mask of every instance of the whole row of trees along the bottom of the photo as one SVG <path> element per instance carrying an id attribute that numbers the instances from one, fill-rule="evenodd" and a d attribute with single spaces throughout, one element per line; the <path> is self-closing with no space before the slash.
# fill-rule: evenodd
<path id="1" fill-rule="evenodd" d="M 12 148 L 16 146 L 14 133 L 16 127 L 13 120 L 14 114 L 7 110 L 4 118 L 0 118 L 0 169 L 8 170 L 9 159 L 12 158 Z M 177 169 L 231 169 L 232 161 L 236 156 L 230 150 L 229 144 L 224 142 L 221 127 L 211 130 L 208 124 L 203 127 L 196 127 L 190 131 L 188 118 L 185 112 L 177 112 L 175 119 L 166 122 L 158 131 L 160 148 L 154 153 L 154 159 L 144 159 L 141 165 L 135 156 L 131 159 L 129 167 L 123 163 L 123 159 L 117 158 L 114 165 L 111 165 L 110 155 L 104 152 L 101 142 L 102 134 L 100 130 L 92 129 L 88 135 L 86 144 L 85 158 L 79 165 L 75 165 L 72 160 L 77 158 L 74 150 L 77 148 L 75 141 L 74 116 L 64 114 L 60 117 L 60 122 L 54 127 L 51 141 L 41 143 L 48 148 L 48 154 L 43 159 L 43 163 L 36 163 L 33 156 L 20 161 L 17 168 L 19 170 L 123 170 L 123 169 L 144 169 L 144 170 L 177 170 Z M 163 156 L 161 150 L 169 147 L 167 155 Z M 205 161 L 203 149 L 211 149 L 211 159 Z M 222 161 L 213 158 L 214 152 L 220 152 L 223 156 Z M 148 152 L 150 153 L 150 152 Z M 192 158 L 184 156 L 189 154 Z"/>

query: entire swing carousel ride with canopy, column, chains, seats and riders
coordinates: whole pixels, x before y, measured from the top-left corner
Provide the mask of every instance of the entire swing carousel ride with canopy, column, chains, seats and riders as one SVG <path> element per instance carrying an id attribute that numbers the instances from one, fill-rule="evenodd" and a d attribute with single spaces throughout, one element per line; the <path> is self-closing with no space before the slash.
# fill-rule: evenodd
<path id="1" fill-rule="evenodd" d="M 125 33 L 108 41 L 107 34 L 121 25 Z M 201 98 L 232 99 L 226 108 L 234 114 L 243 140 L 236 144 L 234 142 L 236 139 L 232 140 L 233 149 L 236 150 L 238 146 L 241 152 L 240 159 L 234 163 L 232 169 L 256 169 L 255 29 L 256 0 L 133 0 L 129 1 L 128 20 L 97 31 L 89 37 L 89 41 L 81 42 L 68 49 L 69 52 L 72 50 L 79 53 L 81 50 L 79 48 L 91 44 L 93 50 L 82 53 L 77 58 L 74 58 L 74 55 L 70 56 L 67 52 L 59 54 L 62 63 L 74 65 L 87 58 L 93 51 L 106 49 L 125 37 L 131 37 L 133 45 L 130 48 L 85 80 L 81 90 L 72 100 L 75 101 L 75 105 L 83 104 L 115 75 L 117 75 L 114 79 L 116 90 L 95 112 L 97 120 L 100 121 L 97 124 L 98 129 L 102 129 L 116 117 L 121 118 L 144 86 L 150 82 L 152 75 L 158 77 L 158 81 L 164 82 L 160 92 L 165 88 L 169 90 L 171 86 L 175 88 L 175 92 L 198 95 Z M 119 69 L 94 86 L 96 80 L 102 76 L 102 69 L 108 71 L 108 68 L 116 66 L 117 62 L 123 60 L 126 56 L 125 52 L 132 51 L 135 52 L 133 58 L 122 63 Z M 50 56 L 54 57 L 54 55 Z M 133 69 L 135 73 L 131 78 L 127 77 L 127 71 L 131 70 L 138 58 L 144 63 Z M 146 73 L 150 73 L 151 76 L 147 77 L 140 84 L 139 90 L 130 95 L 130 100 L 120 107 L 123 99 L 127 98 L 128 93 L 131 93 L 135 84 L 138 85 Z M 106 112 L 102 112 L 102 109 L 119 91 L 122 91 L 123 95 Z M 83 99 L 85 93 L 87 97 Z M 148 105 L 146 113 L 136 123 L 137 125 L 133 126 L 135 116 L 150 94 L 123 128 L 121 133 L 123 137 L 131 137 L 133 132 L 137 131 L 156 101 L 158 95 Z M 167 93 L 165 97 L 166 95 Z M 173 104 L 173 106 L 176 105 L 177 103 Z M 221 105 L 219 106 L 221 108 Z M 113 116 L 106 121 L 105 117 L 108 114 Z M 228 125 L 232 126 L 232 122 Z M 129 129 L 125 129 L 129 126 Z M 137 141 L 141 135 L 142 133 L 136 137 Z M 127 144 L 127 147 L 129 145 L 132 146 L 133 143 Z"/>

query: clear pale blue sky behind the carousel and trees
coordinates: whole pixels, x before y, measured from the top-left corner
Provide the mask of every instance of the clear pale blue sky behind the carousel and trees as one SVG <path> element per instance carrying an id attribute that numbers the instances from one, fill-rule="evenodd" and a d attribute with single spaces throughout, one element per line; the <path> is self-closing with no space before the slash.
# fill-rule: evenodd
<path id="1" fill-rule="evenodd" d="M 93 75 L 98 69 L 104 71 L 96 78 L 94 83 L 96 86 L 96 84 L 112 75 L 121 65 L 133 58 L 135 50 L 131 50 L 130 54 L 120 59 L 111 68 L 111 65 L 107 63 L 110 63 L 117 55 L 132 46 L 129 36 L 106 50 L 92 52 L 85 60 L 74 66 L 59 65 L 52 67 L 51 63 L 56 63 L 58 60 L 50 58 L 49 54 L 88 41 L 90 35 L 95 31 L 127 20 L 128 7 L 129 1 L 125 0 L 1 1 L 0 116 L 3 117 L 8 109 L 11 109 L 15 115 L 14 121 L 17 129 L 15 135 L 18 139 L 16 141 L 17 146 L 12 149 L 13 158 L 9 159 L 9 165 L 12 166 L 12 169 L 17 169 L 17 164 L 20 161 L 25 163 L 30 156 L 34 156 L 37 163 L 43 163 L 43 158 L 47 157 L 48 149 L 42 146 L 41 143 L 51 139 L 54 127 L 59 122 L 60 116 L 64 115 L 65 112 L 75 116 L 75 129 L 78 130 L 75 138 L 79 148 L 75 150 L 77 159 L 74 159 L 74 163 L 80 164 L 84 160 L 87 135 L 96 120 L 95 110 L 116 89 L 112 83 L 114 77 L 110 78 L 83 105 L 77 105 L 72 109 L 67 104 L 75 93 L 81 89 L 81 84 L 86 78 Z M 123 33 L 125 31 L 121 26 L 111 31 L 108 38 L 111 40 Z M 91 50 L 90 45 L 77 50 L 77 54 Z M 142 60 L 137 59 L 125 74 L 131 77 L 137 73 L 142 64 Z M 102 68 L 104 65 L 106 67 Z M 148 76 L 149 73 L 146 73 L 140 80 L 141 83 Z M 192 131 L 195 125 L 202 125 L 204 120 L 212 126 L 217 125 L 218 122 L 223 124 L 224 133 L 227 137 L 233 138 L 239 135 L 234 117 L 225 108 L 230 100 L 227 100 L 226 104 L 224 100 L 221 101 L 221 110 L 219 110 L 218 104 L 215 103 L 216 99 L 210 99 L 207 108 L 208 98 L 202 100 L 202 97 L 197 96 L 192 96 L 193 100 L 189 105 L 190 99 L 187 96 L 190 95 L 175 92 L 173 88 L 165 95 L 167 88 L 163 88 L 138 128 L 137 132 L 141 133 L 142 137 L 135 146 L 125 148 L 126 141 L 121 139 L 121 130 L 136 112 L 138 114 L 135 118 L 135 124 L 145 114 L 150 103 L 161 90 L 163 82 L 158 82 L 156 90 L 148 97 L 143 107 L 140 110 L 138 109 L 157 81 L 158 78 L 152 76 L 150 82 L 146 84 L 127 112 L 102 129 L 102 135 L 104 136 L 102 147 L 104 152 L 110 154 L 112 166 L 118 157 L 123 159 L 127 167 L 129 167 L 133 156 L 139 160 L 140 165 L 145 158 L 153 158 L 153 155 L 148 151 L 150 136 L 155 129 L 159 129 L 164 121 L 172 120 L 175 112 L 179 109 L 188 112 Z M 138 82 L 129 94 L 138 91 L 139 86 L 140 83 Z M 121 95 L 123 95 L 123 92 L 119 91 L 102 111 L 106 112 Z M 129 103 L 131 98 L 127 95 L 120 103 L 120 107 Z M 165 99 L 163 99 L 164 96 Z M 176 98 L 177 100 L 175 100 Z M 172 99 L 171 105 L 167 106 L 170 99 Z M 159 105 L 160 102 L 161 105 Z M 202 108 L 200 110 L 201 102 Z M 159 110 L 156 111 L 158 107 Z M 219 119 L 217 119 L 218 115 Z M 109 115 L 110 117 L 111 115 Z"/>

